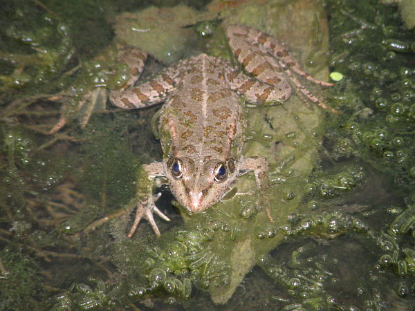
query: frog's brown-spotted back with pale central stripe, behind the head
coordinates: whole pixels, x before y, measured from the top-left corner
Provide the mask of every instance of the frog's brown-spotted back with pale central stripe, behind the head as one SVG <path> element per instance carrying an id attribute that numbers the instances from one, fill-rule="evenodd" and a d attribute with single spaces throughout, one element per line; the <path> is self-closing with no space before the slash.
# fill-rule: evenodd
<path id="1" fill-rule="evenodd" d="M 243 125 L 239 98 L 225 79 L 228 62 L 202 54 L 179 68 L 181 82 L 160 118 L 161 130 L 172 138 L 170 156 L 191 158 L 195 164 L 228 160 Z"/>

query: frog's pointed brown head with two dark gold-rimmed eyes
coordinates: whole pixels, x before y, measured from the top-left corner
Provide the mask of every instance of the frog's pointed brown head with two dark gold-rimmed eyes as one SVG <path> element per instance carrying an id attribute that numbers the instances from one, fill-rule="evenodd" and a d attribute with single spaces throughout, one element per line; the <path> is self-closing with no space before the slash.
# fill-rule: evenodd
<path id="1" fill-rule="evenodd" d="M 195 163 L 186 157 L 165 162 L 170 189 L 178 202 L 193 212 L 214 205 L 228 191 L 238 169 L 234 159 Z"/>

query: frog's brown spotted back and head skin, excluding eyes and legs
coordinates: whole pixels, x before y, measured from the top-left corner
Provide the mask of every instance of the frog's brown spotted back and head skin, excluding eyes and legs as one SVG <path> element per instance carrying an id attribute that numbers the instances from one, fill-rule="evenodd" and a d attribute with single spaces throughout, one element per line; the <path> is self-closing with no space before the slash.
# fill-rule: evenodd
<path id="1" fill-rule="evenodd" d="M 242 144 L 234 147 L 234 140 L 242 134 L 242 109 L 225 79 L 228 62 L 202 54 L 185 60 L 181 68 L 180 82 L 160 117 L 160 132 L 171 138 L 170 146 L 161 142 L 165 153 L 169 149 L 165 173 L 176 200 L 190 211 L 201 211 L 219 200 L 237 176 Z M 181 160 L 181 178 L 174 176 L 170 159 Z M 216 182 L 214 170 L 219 163 L 227 177 Z"/>

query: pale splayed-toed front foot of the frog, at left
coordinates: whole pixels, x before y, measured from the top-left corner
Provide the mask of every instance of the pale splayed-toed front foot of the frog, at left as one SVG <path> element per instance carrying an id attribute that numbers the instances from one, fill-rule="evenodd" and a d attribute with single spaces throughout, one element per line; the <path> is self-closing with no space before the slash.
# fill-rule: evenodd
<path id="1" fill-rule="evenodd" d="M 157 198 L 160 197 L 160 194 L 158 194 Z M 154 196 L 153 194 L 150 194 L 147 196 L 146 200 L 142 200 L 137 203 L 137 211 L 136 211 L 136 218 L 134 219 L 133 227 L 131 227 L 131 230 L 128 234 L 128 237 L 131 238 L 133 236 L 134 232 L 136 232 L 136 229 L 138 227 L 138 223 L 140 223 L 140 220 L 142 218 L 147 219 L 147 221 L 150 223 L 151 227 L 153 228 L 154 232 L 157 236 L 160 236 L 160 230 L 158 229 L 156 222 L 154 221 L 153 213 L 156 213 L 158 216 L 163 218 L 166 221 L 170 221 L 170 218 L 165 216 L 160 209 L 154 205 Z"/>

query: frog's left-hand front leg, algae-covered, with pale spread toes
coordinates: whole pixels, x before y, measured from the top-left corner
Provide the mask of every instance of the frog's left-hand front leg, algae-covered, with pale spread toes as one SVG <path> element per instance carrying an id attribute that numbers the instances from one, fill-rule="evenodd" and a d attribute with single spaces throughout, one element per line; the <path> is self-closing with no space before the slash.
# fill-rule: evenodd
<path id="1" fill-rule="evenodd" d="M 144 172 L 143 172 L 144 171 Z M 158 216 L 163 218 L 164 220 L 170 221 L 170 219 L 165 216 L 154 204 L 154 195 L 153 195 L 153 182 L 154 178 L 159 176 L 165 176 L 163 162 L 154 162 L 151 164 L 144 164 L 142 166 L 142 171 L 140 171 L 141 176 L 139 176 L 139 180 L 142 180 L 143 184 L 145 185 L 138 185 L 136 198 L 137 198 L 137 210 L 136 210 L 136 218 L 134 219 L 133 226 L 128 234 L 128 237 L 131 238 L 134 232 L 138 227 L 138 223 L 142 218 L 147 219 L 151 227 L 153 228 L 154 232 L 157 236 L 160 236 L 160 230 L 154 221 L 153 213 L 155 212 Z M 146 176 L 142 176 L 146 175 Z"/>

